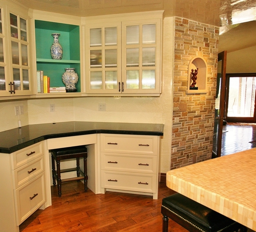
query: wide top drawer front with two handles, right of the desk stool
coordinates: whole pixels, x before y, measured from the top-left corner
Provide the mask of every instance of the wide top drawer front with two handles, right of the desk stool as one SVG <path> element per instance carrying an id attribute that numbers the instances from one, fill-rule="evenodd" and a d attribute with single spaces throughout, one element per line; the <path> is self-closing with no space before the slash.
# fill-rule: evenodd
<path id="1" fill-rule="evenodd" d="M 101 134 L 101 151 L 157 155 L 158 136 Z"/>

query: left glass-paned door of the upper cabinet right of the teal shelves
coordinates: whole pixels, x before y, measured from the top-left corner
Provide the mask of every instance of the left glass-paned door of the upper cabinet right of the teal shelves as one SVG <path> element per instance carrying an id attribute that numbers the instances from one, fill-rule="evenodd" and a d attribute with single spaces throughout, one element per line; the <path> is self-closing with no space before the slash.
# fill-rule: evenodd
<path id="1" fill-rule="evenodd" d="M 118 93 L 121 87 L 121 23 L 86 27 L 86 92 Z"/>

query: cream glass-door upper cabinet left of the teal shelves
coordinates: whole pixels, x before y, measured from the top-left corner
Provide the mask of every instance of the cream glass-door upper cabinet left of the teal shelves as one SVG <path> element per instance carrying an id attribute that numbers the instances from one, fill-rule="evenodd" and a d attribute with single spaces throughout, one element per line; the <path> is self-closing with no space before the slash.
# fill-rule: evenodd
<path id="1" fill-rule="evenodd" d="M 33 94 L 28 11 L 9 1 L 0 5 L 0 96 Z"/>

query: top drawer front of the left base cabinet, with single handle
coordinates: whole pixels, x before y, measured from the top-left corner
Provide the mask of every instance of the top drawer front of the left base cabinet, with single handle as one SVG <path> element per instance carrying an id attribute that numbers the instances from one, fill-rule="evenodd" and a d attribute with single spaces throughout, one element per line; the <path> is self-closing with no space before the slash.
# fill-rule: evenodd
<path id="1" fill-rule="evenodd" d="M 33 144 L 11 154 L 12 170 L 18 168 L 43 154 L 43 142 Z"/>

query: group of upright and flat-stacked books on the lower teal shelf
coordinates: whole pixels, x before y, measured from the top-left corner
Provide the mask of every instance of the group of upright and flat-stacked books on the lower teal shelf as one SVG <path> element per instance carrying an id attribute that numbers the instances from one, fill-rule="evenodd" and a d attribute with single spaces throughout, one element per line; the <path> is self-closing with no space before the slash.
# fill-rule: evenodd
<path id="1" fill-rule="evenodd" d="M 44 76 L 42 70 L 37 71 L 37 92 L 38 93 L 57 93 L 66 92 L 66 87 L 50 87 L 50 77 Z"/>

